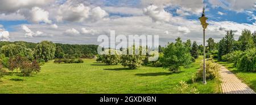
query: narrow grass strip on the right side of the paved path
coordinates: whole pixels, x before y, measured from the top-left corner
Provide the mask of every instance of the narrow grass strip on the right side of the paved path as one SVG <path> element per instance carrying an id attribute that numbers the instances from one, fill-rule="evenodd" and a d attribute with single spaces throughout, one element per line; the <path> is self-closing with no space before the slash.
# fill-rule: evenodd
<path id="1" fill-rule="evenodd" d="M 245 84 L 250 86 L 251 89 L 256 91 L 256 73 L 238 71 L 237 68 L 233 67 L 233 63 L 219 62 L 217 60 L 216 60 L 216 62 L 223 65 L 224 67 L 228 68 L 231 72 L 236 74 L 236 76 L 238 78 L 240 78 L 240 80 L 245 82 Z"/>

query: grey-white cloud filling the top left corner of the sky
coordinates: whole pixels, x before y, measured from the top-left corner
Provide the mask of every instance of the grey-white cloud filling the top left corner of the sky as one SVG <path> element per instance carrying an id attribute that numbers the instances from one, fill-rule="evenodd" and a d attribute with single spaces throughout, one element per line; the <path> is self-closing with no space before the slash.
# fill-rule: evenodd
<path id="1" fill-rule="evenodd" d="M 47 3 L 51 3 L 53 0 L 22 0 L 22 1 L 16 1 L 16 0 L 1 0 L 0 3 L 0 13 L 13 13 L 21 8 L 31 8 L 34 6 L 43 6 Z"/>

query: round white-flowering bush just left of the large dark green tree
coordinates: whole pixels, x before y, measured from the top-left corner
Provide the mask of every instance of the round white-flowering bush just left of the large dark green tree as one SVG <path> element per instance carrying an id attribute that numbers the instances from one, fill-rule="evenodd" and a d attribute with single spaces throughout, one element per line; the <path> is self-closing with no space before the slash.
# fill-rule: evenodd
<path id="1" fill-rule="evenodd" d="M 133 53 L 129 55 L 130 50 L 133 50 Z M 126 51 L 127 54 L 121 56 L 121 64 L 123 67 L 136 69 L 142 66 L 143 60 L 146 58 L 146 56 L 141 54 L 141 47 L 139 48 L 139 54 L 135 54 L 135 46 L 125 49 L 124 51 Z"/>

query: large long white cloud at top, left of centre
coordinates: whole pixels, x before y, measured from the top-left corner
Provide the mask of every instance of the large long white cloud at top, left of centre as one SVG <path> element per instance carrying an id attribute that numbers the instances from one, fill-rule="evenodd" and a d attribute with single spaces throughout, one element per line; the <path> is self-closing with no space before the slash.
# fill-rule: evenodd
<path id="1" fill-rule="evenodd" d="M 85 20 L 97 21 L 104 19 L 108 16 L 105 10 L 101 7 L 91 8 L 85 6 L 83 3 L 73 4 L 73 2 L 66 2 L 59 7 L 58 16 L 56 16 L 57 21 L 77 21 L 82 22 Z"/>

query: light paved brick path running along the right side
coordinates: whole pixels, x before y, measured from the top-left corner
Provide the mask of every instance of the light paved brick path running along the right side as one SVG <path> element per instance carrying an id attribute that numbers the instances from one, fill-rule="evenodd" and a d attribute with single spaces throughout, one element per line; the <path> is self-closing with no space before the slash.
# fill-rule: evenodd
<path id="1" fill-rule="evenodd" d="M 221 90 L 224 94 L 255 94 L 249 86 L 239 80 L 236 75 L 221 66 Z"/>

